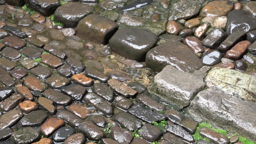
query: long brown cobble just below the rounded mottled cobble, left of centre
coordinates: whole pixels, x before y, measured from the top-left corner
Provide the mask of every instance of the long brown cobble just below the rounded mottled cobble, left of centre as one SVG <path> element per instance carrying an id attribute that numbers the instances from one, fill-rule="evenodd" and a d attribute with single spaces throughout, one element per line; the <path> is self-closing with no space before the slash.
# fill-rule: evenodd
<path id="1" fill-rule="evenodd" d="M 46 89 L 43 92 L 43 96 L 54 101 L 56 105 L 63 105 L 64 107 L 70 105 L 72 102 L 72 98 L 70 96 L 51 88 Z"/>

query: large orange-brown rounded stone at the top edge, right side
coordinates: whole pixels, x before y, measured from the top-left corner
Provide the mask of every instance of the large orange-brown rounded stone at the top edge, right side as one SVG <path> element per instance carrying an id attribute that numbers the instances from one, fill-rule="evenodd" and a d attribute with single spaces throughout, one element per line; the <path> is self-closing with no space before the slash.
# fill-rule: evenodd
<path id="1" fill-rule="evenodd" d="M 225 16 L 233 8 L 232 1 L 211 1 L 201 9 L 199 16 L 203 18 L 206 16 Z"/>

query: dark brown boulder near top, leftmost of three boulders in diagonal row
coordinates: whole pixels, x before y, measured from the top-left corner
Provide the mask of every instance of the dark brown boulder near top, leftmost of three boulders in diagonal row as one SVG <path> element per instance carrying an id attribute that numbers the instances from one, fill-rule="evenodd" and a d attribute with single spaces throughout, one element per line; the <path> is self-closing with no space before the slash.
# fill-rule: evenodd
<path id="1" fill-rule="evenodd" d="M 70 10 L 72 7 L 73 10 Z M 68 2 L 58 7 L 54 12 L 54 21 L 61 22 L 64 27 L 76 27 L 85 16 L 94 12 L 88 4 Z"/>

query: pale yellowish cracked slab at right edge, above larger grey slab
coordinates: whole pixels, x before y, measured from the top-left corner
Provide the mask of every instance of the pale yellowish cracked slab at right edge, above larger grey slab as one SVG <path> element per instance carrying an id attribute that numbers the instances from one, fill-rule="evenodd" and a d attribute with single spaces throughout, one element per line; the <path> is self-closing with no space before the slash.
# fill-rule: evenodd
<path id="1" fill-rule="evenodd" d="M 204 80 L 208 87 L 216 87 L 226 94 L 237 94 L 243 99 L 256 102 L 256 78 L 252 75 L 216 67 L 208 72 Z"/>

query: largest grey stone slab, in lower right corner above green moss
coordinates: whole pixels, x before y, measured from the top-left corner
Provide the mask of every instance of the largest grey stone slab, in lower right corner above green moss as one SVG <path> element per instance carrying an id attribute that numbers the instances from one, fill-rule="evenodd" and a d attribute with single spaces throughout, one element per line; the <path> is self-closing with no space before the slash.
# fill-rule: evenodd
<path id="1" fill-rule="evenodd" d="M 255 109 L 255 102 L 243 101 L 215 88 L 199 92 L 188 107 L 196 121 L 227 128 L 253 142 L 256 142 Z"/>

